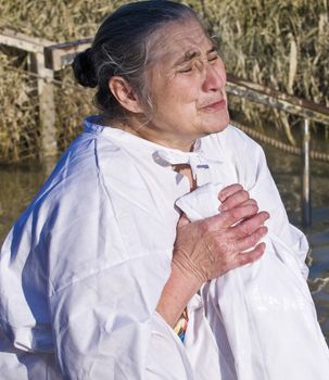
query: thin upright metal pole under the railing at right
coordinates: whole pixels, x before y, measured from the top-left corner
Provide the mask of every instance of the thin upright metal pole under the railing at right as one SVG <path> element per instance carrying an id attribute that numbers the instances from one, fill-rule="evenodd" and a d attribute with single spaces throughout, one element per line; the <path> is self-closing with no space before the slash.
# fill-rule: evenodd
<path id="1" fill-rule="evenodd" d="M 308 227 L 312 224 L 312 204 L 311 204 L 311 166 L 309 166 L 309 121 L 305 118 L 303 136 L 303 178 L 302 178 L 302 223 Z"/>

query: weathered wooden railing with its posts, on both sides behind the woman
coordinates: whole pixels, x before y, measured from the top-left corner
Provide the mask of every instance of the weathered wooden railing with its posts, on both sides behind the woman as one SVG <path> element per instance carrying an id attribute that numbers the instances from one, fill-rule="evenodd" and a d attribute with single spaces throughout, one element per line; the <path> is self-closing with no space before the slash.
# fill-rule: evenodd
<path id="1" fill-rule="evenodd" d="M 29 69 L 36 74 L 39 97 L 40 123 L 42 126 L 42 150 L 46 155 L 53 154 L 55 147 L 54 100 L 52 81 L 54 72 L 63 69 L 73 62 L 74 56 L 88 48 L 91 39 L 53 43 L 29 37 L 10 29 L 0 30 L 0 43 L 22 49 L 29 54 Z M 329 125 L 329 109 L 314 102 L 253 84 L 233 75 L 227 76 L 227 92 L 249 101 L 266 104 L 279 111 L 304 119 L 303 139 L 303 224 L 311 225 L 311 169 L 309 169 L 309 121 Z"/>

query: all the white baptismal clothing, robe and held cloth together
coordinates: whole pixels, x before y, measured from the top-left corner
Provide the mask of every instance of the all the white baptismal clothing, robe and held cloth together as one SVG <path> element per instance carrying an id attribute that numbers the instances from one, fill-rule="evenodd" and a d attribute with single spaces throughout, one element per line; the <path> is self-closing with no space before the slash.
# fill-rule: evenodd
<path id="1" fill-rule="evenodd" d="M 184 153 L 97 123 L 86 119 L 2 246 L 0 378 L 328 380 L 307 243 L 260 145 L 228 126 Z M 185 201 L 189 181 L 172 169 L 184 162 L 200 188 Z M 236 182 L 270 214 L 267 249 L 193 296 L 182 344 L 155 312 L 176 201 L 191 218 L 214 215 L 218 186 Z"/>

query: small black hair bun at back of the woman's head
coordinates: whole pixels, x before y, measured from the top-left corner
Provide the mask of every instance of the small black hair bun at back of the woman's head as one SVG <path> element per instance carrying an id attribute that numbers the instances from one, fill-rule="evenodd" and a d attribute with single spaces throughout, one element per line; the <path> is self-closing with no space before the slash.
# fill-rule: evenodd
<path id="1" fill-rule="evenodd" d="M 81 86 L 93 88 L 98 85 L 91 48 L 78 53 L 73 61 L 72 67 L 74 76 Z"/>

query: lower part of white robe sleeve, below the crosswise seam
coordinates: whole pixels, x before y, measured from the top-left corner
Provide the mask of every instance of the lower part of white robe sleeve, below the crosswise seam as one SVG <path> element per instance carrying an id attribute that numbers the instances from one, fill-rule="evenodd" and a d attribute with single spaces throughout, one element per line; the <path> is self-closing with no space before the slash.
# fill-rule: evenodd
<path id="1" fill-rule="evenodd" d="M 150 257 L 107 268 L 50 299 L 66 379 L 190 379 L 182 347 L 151 308 Z M 140 270 L 140 266 L 144 270 Z M 156 274 L 154 270 L 154 275 Z M 168 371 L 174 371 L 168 376 Z"/>

